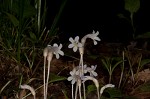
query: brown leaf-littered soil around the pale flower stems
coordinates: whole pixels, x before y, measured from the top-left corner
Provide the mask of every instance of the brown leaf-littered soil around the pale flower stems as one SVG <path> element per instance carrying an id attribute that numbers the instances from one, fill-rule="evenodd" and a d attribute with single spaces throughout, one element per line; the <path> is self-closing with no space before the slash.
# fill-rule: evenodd
<path id="1" fill-rule="evenodd" d="M 142 54 L 142 59 L 148 58 L 150 56 L 149 49 L 143 49 L 142 46 L 137 47 L 132 44 L 122 44 L 122 43 L 108 43 L 102 42 L 97 46 L 93 46 L 89 42 L 86 45 L 86 50 L 84 54 L 84 62 L 88 65 L 97 65 L 96 72 L 98 73 L 98 81 L 101 85 L 109 83 L 108 72 L 103 67 L 101 59 L 104 57 L 122 57 L 122 51 L 127 49 L 132 54 L 132 58 L 134 60 L 138 59 L 138 55 Z M 61 56 L 59 60 L 55 57 L 51 62 L 51 70 L 52 74 L 61 76 L 61 77 L 69 77 L 69 72 L 73 69 L 74 66 L 77 66 L 79 63 L 79 53 L 73 53 L 72 49 L 63 49 L 65 56 Z M 29 57 L 30 58 L 30 57 Z M 33 88 L 38 90 L 36 91 L 36 99 L 43 99 L 43 56 L 42 53 L 38 54 L 38 57 L 35 59 L 34 66 L 32 68 L 29 67 L 29 64 L 25 61 L 21 61 L 18 64 L 11 56 L 6 55 L 6 53 L 0 53 L 0 88 L 4 87 L 2 90 L 1 97 L 3 99 L 15 99 L 17 97 L 22 97 L 27 95 L 29 91 L 19 89 L 20 83 L 26 83 L 32 86 Z M 132 60 L 132 61 L 134 61 Z M 136 61 L 137 62 L 137 61 Z M 134 63 L 133 68 L 134 72 L 137 69 L 137 63 Z M 135 90 L 138 86 L 145 84 L 150 81 L 150 64 L 146 64 L 138 73 L 138 79 L 135 82 L 132 82 L 131 76 L 128 77 L 126 83 L 120 87 L 123 96 L 134 96 L 138 99 L 149 99 L 149 92 L 141 92 Z M 124 78 L 129 71 L 129 64 L 125 64 Z M 20 76 L 22 74 L 22 79 Z M 113 77 L 111 83 L 115 84 L 118 87 L 118 83 L 120 80 L 121 68 L 117 67 L 113 72 Z M 123 80 L 125 80 L 123 78 Z M 51 78 L 50 78 L 51 80 Z M 92 83 L 89 83 L 92 84 Z M 41 87 L 41 88 L 39 88 Z M 71 99 L 71 82 L 67 80 L 60 80 L 56 82 L 52 82 L 48 86 L 48 97 L 49 99 L 65 99 L 65 94 L 69 99 Z M 107 95 L 106 95 L 107 96 Z M 95 98 L 94 98 L 95 97 Z M 108 96 L 109 97 L 109 96 Z M 128 99 L 122 97 L 121 99 Z M 87 99 L 96 99 L 96 92 L 91 92 Z M 27 99 L 33 99 L 30 95 Z M 119 98 L 115 98 L 119 99 Z M 130 98 L 131 99 L 131 98 Z"/>

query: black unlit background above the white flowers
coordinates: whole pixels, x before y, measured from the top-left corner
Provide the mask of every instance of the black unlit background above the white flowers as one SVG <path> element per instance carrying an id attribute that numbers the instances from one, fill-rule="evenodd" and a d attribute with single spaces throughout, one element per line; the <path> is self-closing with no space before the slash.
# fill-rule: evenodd
<path id="1" fill-rule="evenodd" d="M 48 0 L 48 26 L 51 25 L 63 0 Z M 150 31 L 150 5 L 141 0 L 140 9 L 134 14 L 135 35 Z M 61 14 L 58 27 L 62 38 L 84 36 L 93 30 L 108 42 L 128 42 L 133 39 L 131 23 L 118 14 L 130 19 L 124 9 L 124 0 L 68 0 Z"/>

